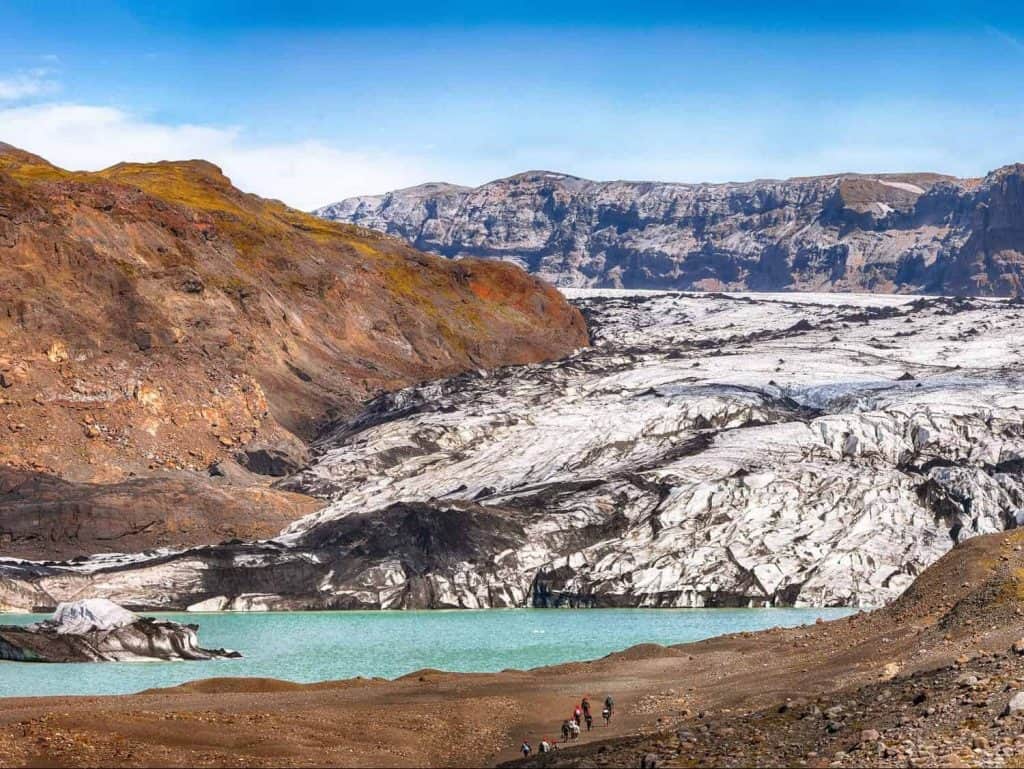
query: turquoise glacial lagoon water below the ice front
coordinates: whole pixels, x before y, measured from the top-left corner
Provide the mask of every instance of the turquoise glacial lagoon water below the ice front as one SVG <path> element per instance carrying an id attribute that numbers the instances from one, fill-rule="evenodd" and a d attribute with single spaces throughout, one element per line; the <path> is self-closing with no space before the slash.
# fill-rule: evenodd
<path id="1" fill-rule="evenodd" d="M 499 609 L 161 613 L 200 626 L 206 647 L 242 659 L 206 663 L 40 665 L 0 661 L 0 696 L 126 694 L 214 676 L 311 682 L 395 678 L 422 668 L 490 672 L 593 659 L 638 643 L 672 644 L 792 627 L 851 609 Z M 38 614 L 0 614 L 28 625 Z"/>

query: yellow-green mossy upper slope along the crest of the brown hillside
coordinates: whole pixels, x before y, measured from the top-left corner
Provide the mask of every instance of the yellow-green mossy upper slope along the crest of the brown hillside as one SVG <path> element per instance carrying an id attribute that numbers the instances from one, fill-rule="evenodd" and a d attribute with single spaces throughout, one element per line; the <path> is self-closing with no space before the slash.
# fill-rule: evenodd
<path id="1" fill-rule="evenodd" d="M 236 299 L 269 284 L 326 301 L 336 285 L 344 286 L 354 275 L 358 281 L 351 288 L 356 293 L 359 286 L 379 283 L 392 300 L 411 311 L 412 323 L 436 333 L 462 354 L 470 340 L 485 339 L 496 324 L 529 326 L 538 314 L 535 304 L 526 301 L 541 289 L 505 265 L 480 265 L 472 272 L 454 267 L 382 233 L 327 221 L 280 201 L 243 193 L 206 161 L 119 163 L 97 172 L 69 172 L 0 145 L 0 171 L 27 187 L 70 183 L 60 188 L 69 197 L 78 195 L 78 185 L 100 186 L 101 200 L 113 197 L 114 209 L 125 212 L 128 220 L 160 227 L 155 239 L 173 234 L 177 243 L 171 250 L 181 253 L 182 263 L 199 255 L 197 243 L 209 249 L 204 259 L 214 254 L 226 257 L 229 264 L 207 275 L 206 283 Z M 168 252 L 161 253 L 165 256 L 158 261 L 166 267 Z M 134 276 L 135 267 L 120 261 L 121 272 Z M 357 271 L 360 268 L 365 272 Z"/>

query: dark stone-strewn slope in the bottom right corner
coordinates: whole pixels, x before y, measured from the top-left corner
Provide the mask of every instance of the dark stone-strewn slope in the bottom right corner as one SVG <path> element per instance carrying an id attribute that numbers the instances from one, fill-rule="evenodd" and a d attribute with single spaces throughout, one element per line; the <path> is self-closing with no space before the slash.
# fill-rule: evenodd
<path id="1" fill-rule="evenodd" d="M 658 726 L 670 722 L 671 731 L 507 766 L 1017 767 L 1024 763 L 1024 660 L 1013 649 L 982 653 L 853 691 L 663 718 Z"/>

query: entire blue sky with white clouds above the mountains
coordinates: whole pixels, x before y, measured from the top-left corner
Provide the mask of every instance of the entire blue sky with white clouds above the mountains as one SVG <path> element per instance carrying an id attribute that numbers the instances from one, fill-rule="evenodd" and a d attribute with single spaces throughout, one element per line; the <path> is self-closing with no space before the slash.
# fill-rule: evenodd
<path id="1" fill-rule="evenodd" d="M 204 157 L 302 208 L 532 168 L 979 175 L 1022 126 L 1010 3 L 0 0 L 0 140 Z"/>

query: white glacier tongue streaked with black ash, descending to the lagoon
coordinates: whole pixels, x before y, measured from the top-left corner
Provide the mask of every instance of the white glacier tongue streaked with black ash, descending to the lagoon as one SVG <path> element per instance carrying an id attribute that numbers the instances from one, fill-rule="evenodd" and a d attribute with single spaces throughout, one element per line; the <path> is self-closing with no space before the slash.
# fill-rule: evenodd
<path id="1" fill-rule="evenodd" d="M 1016 302 L 574 301 L 592 348 L 338 425 L 283 484 L 331 504 L 278 540 L 4 563 L 0 603 L 6 576 L 153 607 L 867 606 L 1024 520 Z"/>

